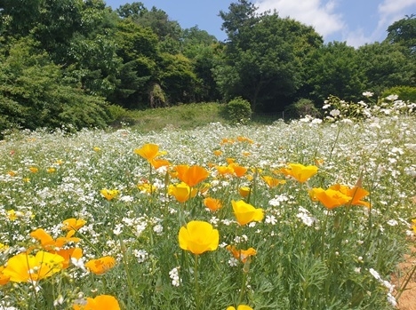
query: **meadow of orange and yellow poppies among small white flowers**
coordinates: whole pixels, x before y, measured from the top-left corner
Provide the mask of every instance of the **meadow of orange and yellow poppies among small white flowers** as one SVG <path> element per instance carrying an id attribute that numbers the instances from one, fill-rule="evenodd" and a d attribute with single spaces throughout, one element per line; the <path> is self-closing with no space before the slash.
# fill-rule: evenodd
<path id="1" fill-rule="evenodd" d="M 0 309 L 393 309 L 415 137 L 409 115 L 8 135 Z"/>

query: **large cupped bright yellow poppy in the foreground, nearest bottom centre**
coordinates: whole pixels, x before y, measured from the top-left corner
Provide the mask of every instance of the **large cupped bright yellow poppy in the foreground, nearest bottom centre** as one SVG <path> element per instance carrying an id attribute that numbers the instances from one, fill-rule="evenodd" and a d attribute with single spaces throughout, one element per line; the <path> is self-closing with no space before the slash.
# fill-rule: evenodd
<path id="1" fill-rule="evenodd" d="M 217 250 L 220 233 L 208 222 L 193 220 L 186 227 L 180 227 L 180 249 L 194 254 L 202 254 L 207 250 Z"/>

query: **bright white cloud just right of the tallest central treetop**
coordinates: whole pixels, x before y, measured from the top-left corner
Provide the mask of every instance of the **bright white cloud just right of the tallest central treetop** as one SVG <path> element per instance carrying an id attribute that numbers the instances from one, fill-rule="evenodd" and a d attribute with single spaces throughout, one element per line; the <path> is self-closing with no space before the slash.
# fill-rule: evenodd
<path id="1" fill-rule="evenodd" d="M 290 16 L 294 20 L 313 26 L 316 32 L 324 37 L 345 27 L 342 15 L 334 12 L 334 0 L 260 0 L 255 5 L 259 7 L 260 12 L 276 10 L 280 17 Z"/>

